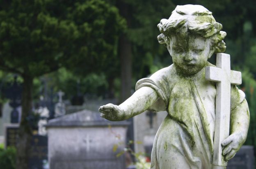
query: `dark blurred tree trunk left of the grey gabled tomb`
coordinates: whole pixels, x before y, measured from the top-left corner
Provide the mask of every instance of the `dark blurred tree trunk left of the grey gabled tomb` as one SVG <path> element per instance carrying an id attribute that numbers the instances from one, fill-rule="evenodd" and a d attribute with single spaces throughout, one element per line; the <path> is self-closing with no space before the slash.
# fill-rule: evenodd
<path id="1" fill-rule="evenodd" d="M 32 111 L 32 86 L 33 78 L 23 76 L 22 90 L 22 115 L 18 134 L 16 169 L 28 169 L 30 143 L 32 140 L 32 129 L 27 117 Z"/>

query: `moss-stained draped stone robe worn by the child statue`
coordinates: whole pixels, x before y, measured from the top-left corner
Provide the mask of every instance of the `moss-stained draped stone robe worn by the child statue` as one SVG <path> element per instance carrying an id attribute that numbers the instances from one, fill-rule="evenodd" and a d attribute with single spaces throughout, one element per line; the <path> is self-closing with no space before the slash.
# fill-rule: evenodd
<path id="1" fill-rule="evenodd" d="M 214 65 L 208 62 L 207 66 Z M 144 86 L 158 94 L 150 109 L 168 112 L 155 136 L 151 169 L 210 169 L 216 84 L 205 79 L 205 68 L 185 77 L 172 64 L 139 80 L 136 90 Z M 232 85 L 231 113 L 244 99 L 245 94 Z"/>

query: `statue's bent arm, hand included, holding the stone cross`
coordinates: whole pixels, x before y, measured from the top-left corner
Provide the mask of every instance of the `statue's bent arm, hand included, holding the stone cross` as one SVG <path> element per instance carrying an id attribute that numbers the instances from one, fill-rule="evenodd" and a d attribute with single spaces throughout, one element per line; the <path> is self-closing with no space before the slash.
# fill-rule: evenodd
<path id="1" fill-rule="evenodd" d="M 249 129 L 250 114 L 247 101 L 244 99 L 240 105 L 231 111 L 230 133 L 231 135 L 222 142 L 224 147 L 222 154 L 226 160 L 235 156 L 235 153 L 244 144 Z"/>

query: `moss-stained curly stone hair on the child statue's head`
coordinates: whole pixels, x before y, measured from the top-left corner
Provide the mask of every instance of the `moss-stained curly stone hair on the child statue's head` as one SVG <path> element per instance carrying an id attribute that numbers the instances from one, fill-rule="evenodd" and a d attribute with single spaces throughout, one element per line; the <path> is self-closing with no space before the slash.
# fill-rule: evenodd
<path id="1" fill-rule="evenodd" d="M 192 33 L 203 38 L 211 39 L 211 49 L 214 53 L 222 53 L 226 50 L 223 39 L 226 32 L 220 31 L 222 24 L 215 21 L 212 12 L 201 5 L 178 5 L 172 11 L 169 19 L 162 19 L 158 24 L 161 34 L 158 42 L 165 47 L 170 43 L 171 35 L 176 33 Z"/>

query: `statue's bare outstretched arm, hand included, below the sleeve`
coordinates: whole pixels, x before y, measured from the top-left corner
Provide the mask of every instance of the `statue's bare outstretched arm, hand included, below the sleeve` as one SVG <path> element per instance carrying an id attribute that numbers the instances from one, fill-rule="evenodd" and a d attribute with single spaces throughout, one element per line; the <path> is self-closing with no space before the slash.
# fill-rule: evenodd
<path id="1" fill-rule="evenodd" d="M 135 91 L 130 98 L 121 105 L 111 103 L 99 108 L 101 117 L 111 121 L 121 121 L 136 116 L 148 109 L 158 99 L 158 95 L 151 87 L 142 87 Z"/>

